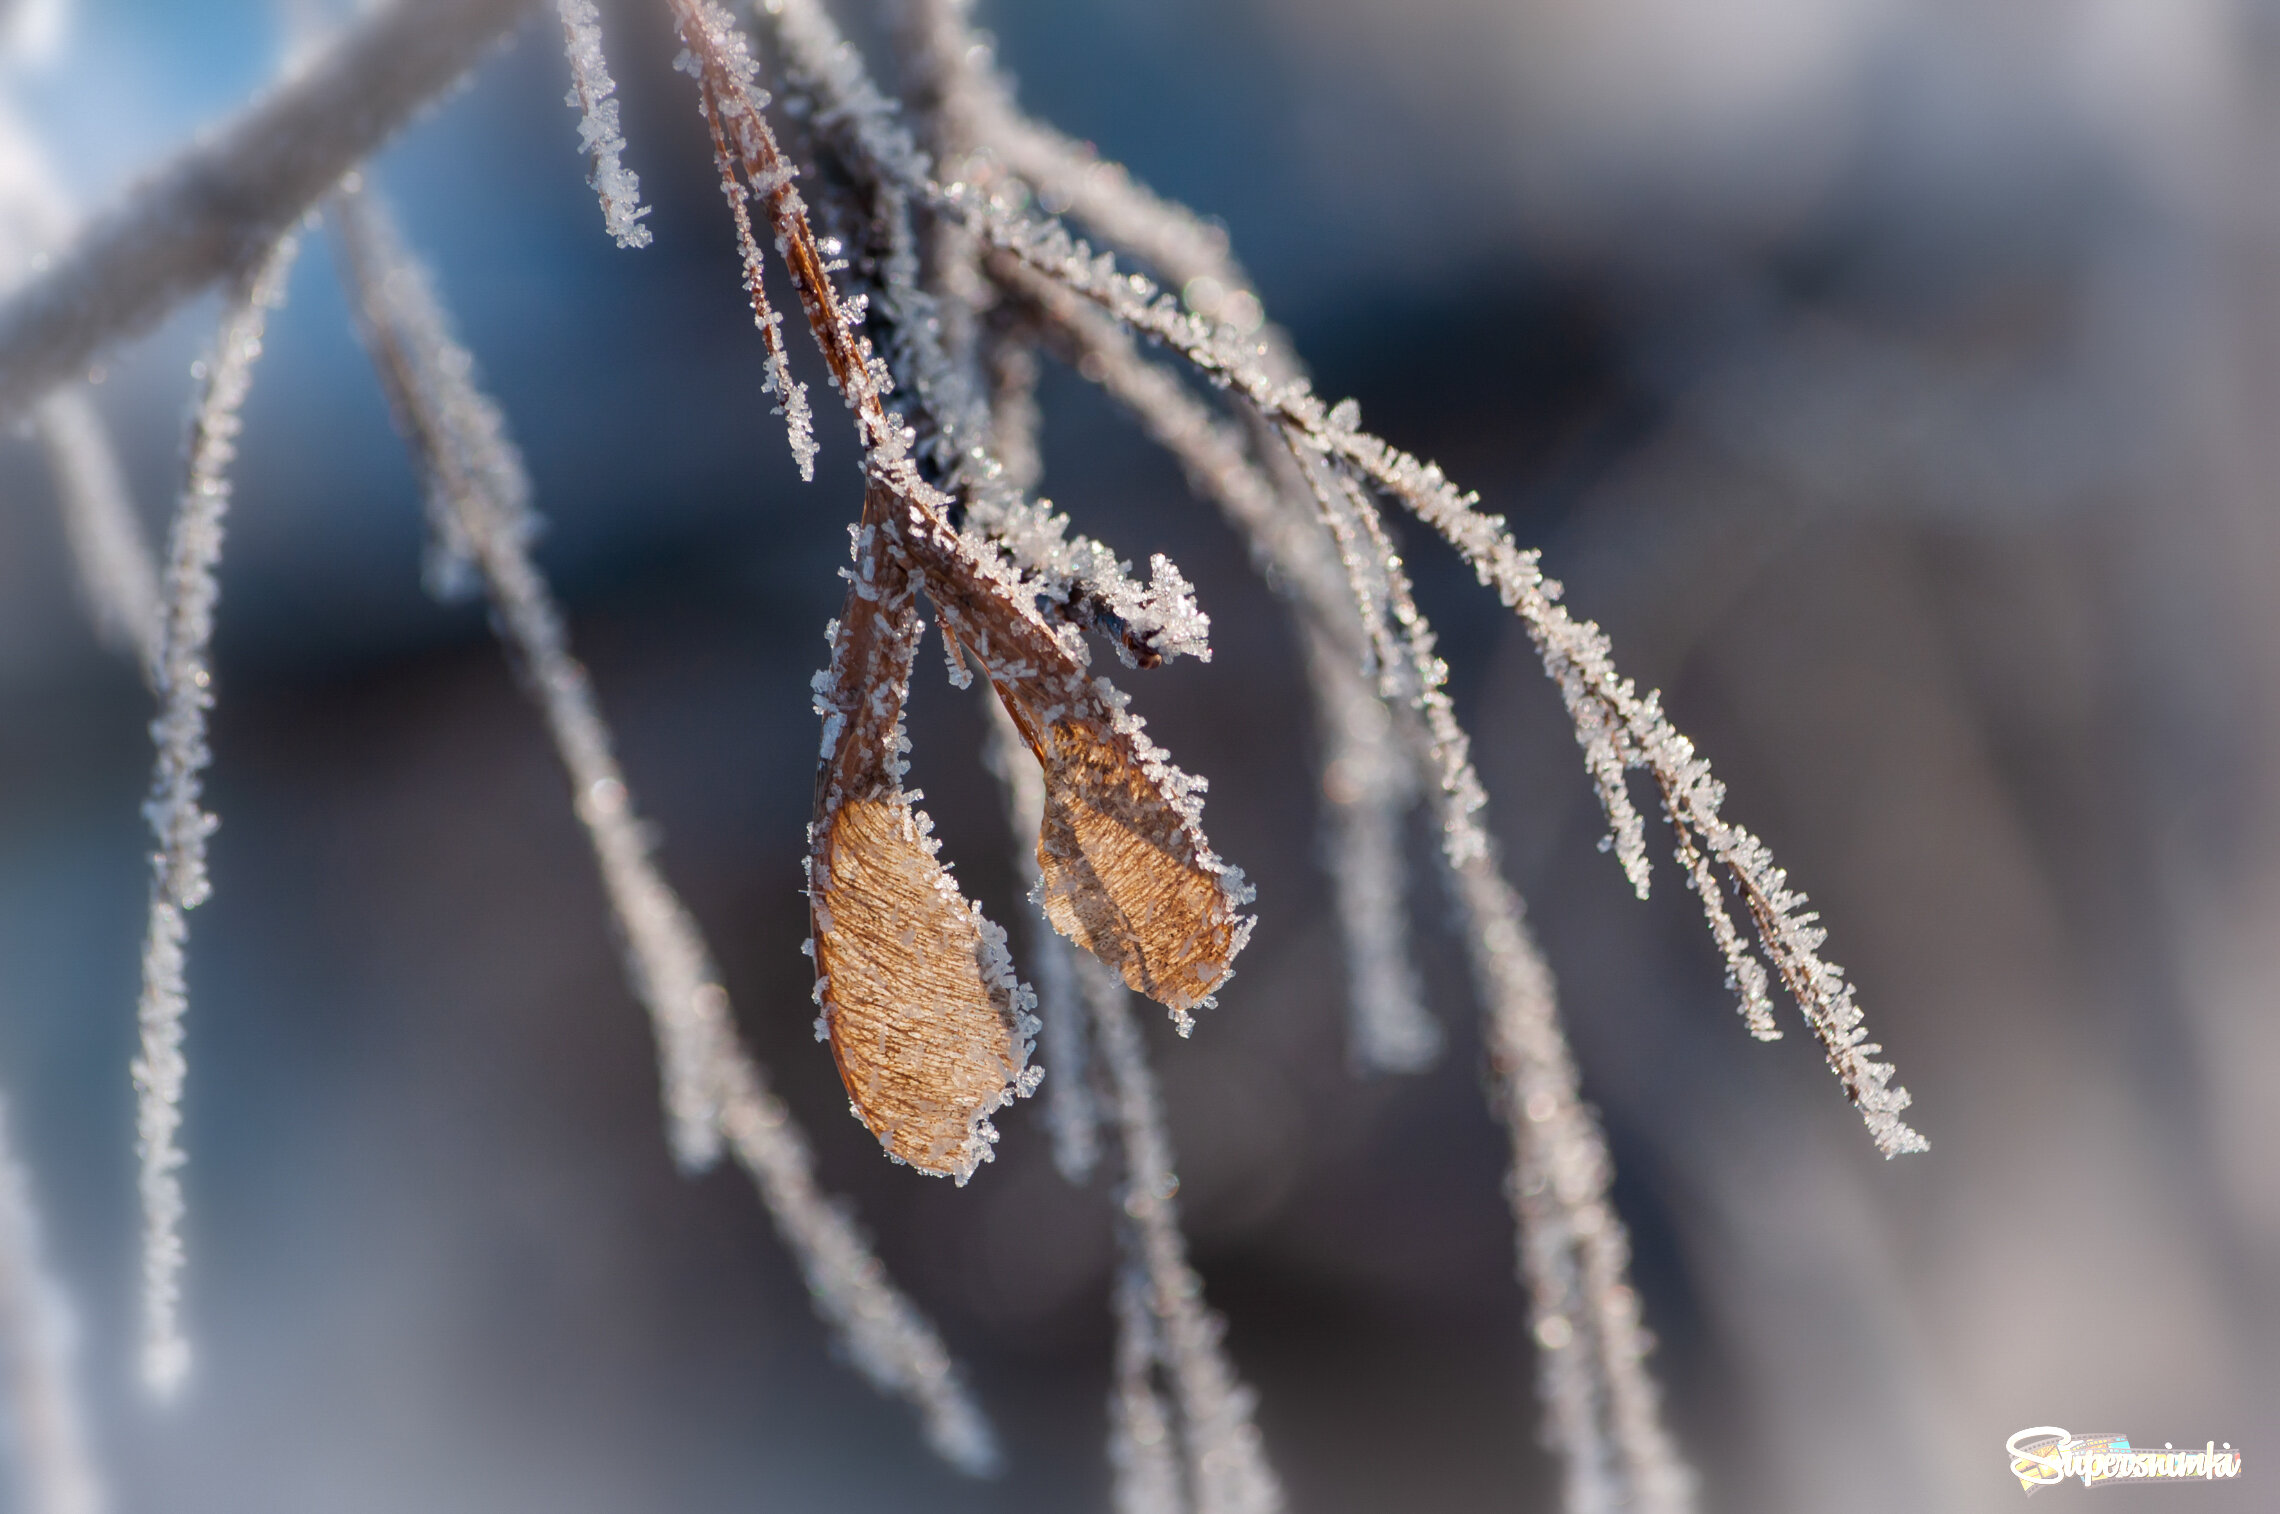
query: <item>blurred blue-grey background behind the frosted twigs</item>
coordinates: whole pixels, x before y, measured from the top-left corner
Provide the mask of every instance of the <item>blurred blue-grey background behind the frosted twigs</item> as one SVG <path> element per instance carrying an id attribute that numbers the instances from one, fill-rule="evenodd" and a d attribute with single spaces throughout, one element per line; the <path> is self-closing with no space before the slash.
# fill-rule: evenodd
<path id="1" fill-rule="evenodd" d="M 876 14 L 846 11 L 864 34 Z M 1320 388 L 1601 620 L 1813 892 L 1931 1154 L 1746 1040 L 1669 866 L 1603 832 L 1514 620 L 1414 543 L 1619 1167 L 1669 1416 L 1742 1512 L 2009 1509 L 2027 1425 L 2280 1455 L 2280 7 L 2269 0 L 983 0 L 1024 100 L 1224 219 Z M 657 244 L 584 185 L 527 25 L 376 178 L 552 520 L 543 561 L 746 1037 L 1008 1441 L 935 1464 L 830 1359 L 750 1188 L 675 1177 L 565 782 L 420 502 L 312 239 L 246 413 L 192 919 L 189 1322 L 132 1377 L 125 1065 L 148 695 L 0 447 L 0 1088 L 121 1509 L 1106 1509 L 1108 1197 L 1040 1108 L 955 1190 L 809 1033 L 807 677 L 857 508 L 759 390 L 689 80 L 609 16 Z M 82 205 L 271 73 L 267 0 L 82 0 L 9 78 Z M 160 529 L 212 303 L 105 363 Z M 823 390 L 819 390 L 821 394 Z M 1550 1509 L 1475 1006 L 1354 1081 L 1293 643 L 1215 515 L 1067 374 L 1047 493 L 1170 552 L 1218 659 L 1126 677 L 1261 928 L 1151 1026 L 1181 1204 L 1302 1514 Z M 980 709 L 917 780 L 1017 910 Z M 1019 923 L 1015 933 L 1019 935 Z M 1783 1006 L 1783 1015 L 1792 1010 Z M 1794 1026 L 1794 1017 L 1788 1021 Z M 2054 1491 L 2045 1498 L 2079 1498 Z"/>

